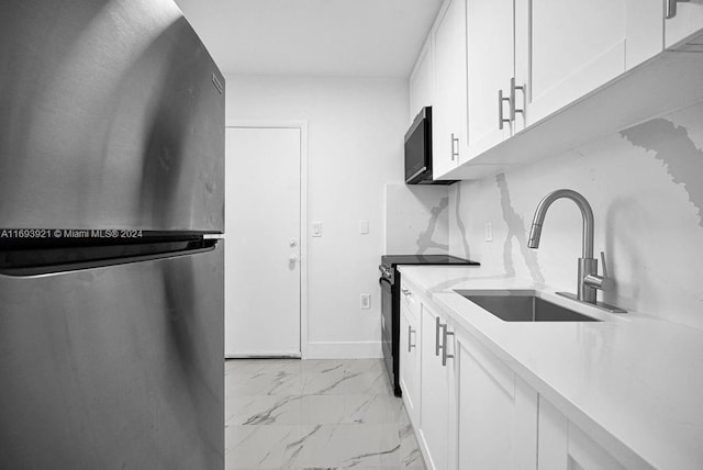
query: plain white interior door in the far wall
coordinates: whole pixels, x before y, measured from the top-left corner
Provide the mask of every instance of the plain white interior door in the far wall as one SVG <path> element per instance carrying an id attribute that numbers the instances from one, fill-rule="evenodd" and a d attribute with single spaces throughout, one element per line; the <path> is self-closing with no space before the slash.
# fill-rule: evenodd
<path id="1" fill-rule="evenodd" d="M 225 356 L 300 356 L 301 131 L 227 127 Z"/>

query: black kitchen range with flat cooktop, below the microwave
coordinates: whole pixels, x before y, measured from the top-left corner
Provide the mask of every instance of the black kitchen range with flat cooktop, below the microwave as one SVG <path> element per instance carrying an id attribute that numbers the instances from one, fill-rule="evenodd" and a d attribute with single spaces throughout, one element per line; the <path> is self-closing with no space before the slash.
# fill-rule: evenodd
<path id="1" fill-rule="evenodd" d="M 390 255 L 381 257 L 381 348 L 388 377 L 395 396 L 400 391 L 400 272 L 399 265 L 478 266 L 478 262 L 450 255 Z"/>

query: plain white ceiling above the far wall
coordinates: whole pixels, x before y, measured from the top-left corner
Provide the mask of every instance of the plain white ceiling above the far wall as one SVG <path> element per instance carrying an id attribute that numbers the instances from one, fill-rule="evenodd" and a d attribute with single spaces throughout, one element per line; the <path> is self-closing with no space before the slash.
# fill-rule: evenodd
<path id="1" fill-rule="evenodd" d="M 442 0 L 176 0 L 224 74 L 406 78 Z"/>

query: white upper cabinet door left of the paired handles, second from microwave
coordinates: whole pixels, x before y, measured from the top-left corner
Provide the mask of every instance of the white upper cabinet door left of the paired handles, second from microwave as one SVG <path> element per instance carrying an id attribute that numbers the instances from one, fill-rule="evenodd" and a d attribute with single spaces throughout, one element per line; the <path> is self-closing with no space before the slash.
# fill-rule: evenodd
<path id="1" fill-rule="evenodd" d="M 513 0 L 467 0 L 469 158 L 511 135 L 513 19 Z"/>

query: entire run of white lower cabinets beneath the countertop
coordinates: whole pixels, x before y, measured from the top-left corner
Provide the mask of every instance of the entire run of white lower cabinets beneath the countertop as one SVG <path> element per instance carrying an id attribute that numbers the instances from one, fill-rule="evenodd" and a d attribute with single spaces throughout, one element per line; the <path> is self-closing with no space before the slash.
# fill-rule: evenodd
<path id="1" fill-rule="evenodd" d="M 614 451 L 599 445 L 454 318 L 402 288 L 401 388 L 428 469 L 652 469 L 616 441 Z"/>

